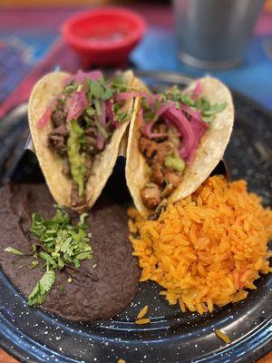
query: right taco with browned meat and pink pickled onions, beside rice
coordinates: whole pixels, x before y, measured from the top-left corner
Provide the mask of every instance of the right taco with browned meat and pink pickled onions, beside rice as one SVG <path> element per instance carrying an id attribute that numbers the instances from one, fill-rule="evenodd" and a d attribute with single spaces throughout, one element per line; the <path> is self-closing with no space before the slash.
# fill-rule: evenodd
<path id="1" fill-rule="evenodd" d="M 138 87 L 126 180 L 136 208 L 148 217 L 207 179 L 228 145 L 234 108 L 228 88 L 210 77 L 182 92 L 173 86 L 153 94 L 141 81 Z"/>

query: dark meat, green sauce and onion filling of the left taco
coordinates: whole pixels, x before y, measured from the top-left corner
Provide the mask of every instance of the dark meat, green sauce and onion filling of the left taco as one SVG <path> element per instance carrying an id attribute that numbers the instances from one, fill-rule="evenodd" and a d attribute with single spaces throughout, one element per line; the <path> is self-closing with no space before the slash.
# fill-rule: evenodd
<path id="1" fill-rule="evenodd" d="M 100 71 L 67 76 L 63 91 L 38 121 L 38 127 L 52 123 L 47 147 L 63 159 L 63 174 L 72 180 L 70 193 L 74 211 L 88 209 L 86 182 L 94 159 L 111 142 L 112 133 L 131 117 L 124 109 L 127 91 L 122 74 L 105 80 Z"/>

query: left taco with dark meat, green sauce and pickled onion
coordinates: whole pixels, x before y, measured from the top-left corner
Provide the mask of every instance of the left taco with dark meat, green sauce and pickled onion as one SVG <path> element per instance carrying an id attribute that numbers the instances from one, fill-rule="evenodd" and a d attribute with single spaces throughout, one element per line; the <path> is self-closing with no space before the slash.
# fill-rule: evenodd
<path id="1" fill-rule="evenodd" d="M 79 213 L 99 197 L 131 120 L 129 71 L 105 80 L 100 71 L 47 74 L 34 87 L 29 126 L 53 199 Z"/>

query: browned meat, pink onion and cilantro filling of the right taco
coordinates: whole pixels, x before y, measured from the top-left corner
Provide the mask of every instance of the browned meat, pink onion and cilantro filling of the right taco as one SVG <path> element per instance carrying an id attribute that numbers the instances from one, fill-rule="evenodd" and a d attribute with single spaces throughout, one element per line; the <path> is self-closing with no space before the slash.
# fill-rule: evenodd
<path id="1" fill-rule="evenodd" d="M 214 115 L 226 105 L 209 103 L 201 96 L 200 83 L 185 94 L 173 86 L 165 93 L 142 96 L 139 149 L 150 180 L 141 190 L 141 199 L 147 209 L 156 210 L 180 185 Z"/>

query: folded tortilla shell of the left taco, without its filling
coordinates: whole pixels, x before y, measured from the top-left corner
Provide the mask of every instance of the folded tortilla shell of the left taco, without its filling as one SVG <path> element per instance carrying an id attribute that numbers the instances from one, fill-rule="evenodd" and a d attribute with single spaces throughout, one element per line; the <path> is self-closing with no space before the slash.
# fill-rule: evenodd
<path id="1" fill-rule="evenodd" d="M 63 72 L 47 74 L 35 84 L 29 100 L 28 120 L 34 150 L 53 199 L 60 205 L 71 207 L 70 193 L 73 180 L 62 172 L 63 158 L 53 152 L 47 144 L 47 136 L 53 130 L 53 124 L 46 123 L 43 128 L 39 128 L 37 125 L 47 107 L 52 103 L 53 98 L 62 92 L 63 82 L 68 75 Z M 124 74 L 123 79 L 125 83 L 130 85 L 134 76 L 131 71 L 128 71 Z M 123 106 L 123 111 L 131 113 L 133 103 L 133 99 L 127 101 Z M 86 182 L 86 201 L 89 208 L 98 199 L 105 183 L 112 174 L 113 166 L 118 157 L 121 138 L 129 123 L 130 120 L 122 123 L 118 129 L 114 130 L 111 141 L 107 143 L 102 152 L 95 156 L 92 163 L 92 175 Z"/>

